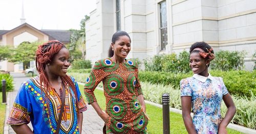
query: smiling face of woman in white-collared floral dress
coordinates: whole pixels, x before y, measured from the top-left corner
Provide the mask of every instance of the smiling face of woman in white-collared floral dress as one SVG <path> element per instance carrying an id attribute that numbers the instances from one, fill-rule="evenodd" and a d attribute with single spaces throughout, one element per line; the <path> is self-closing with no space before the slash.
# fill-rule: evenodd
<path id="1" fill-rule="evenodd" d="M 189 67 L 193 73 L 202 76 L 208 76 L 208 67 L 210 61 L 200 56 L 199 52 L 192 52 L 189 57 Z"/>

